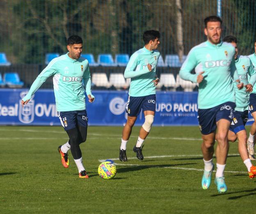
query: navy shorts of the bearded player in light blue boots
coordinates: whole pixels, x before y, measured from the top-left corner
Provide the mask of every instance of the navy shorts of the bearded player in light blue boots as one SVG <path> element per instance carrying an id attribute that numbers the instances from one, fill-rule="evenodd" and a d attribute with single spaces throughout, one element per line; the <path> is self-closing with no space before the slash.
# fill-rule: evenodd
<path id="1" fill-rule="evenodd" d="M 210 109 L 198 109 L 198 121 L 202 134 L 215 132 L 217 121 L 226 119 L 231 122 L 234 116 L 235 103 L 226 102 Z"/>

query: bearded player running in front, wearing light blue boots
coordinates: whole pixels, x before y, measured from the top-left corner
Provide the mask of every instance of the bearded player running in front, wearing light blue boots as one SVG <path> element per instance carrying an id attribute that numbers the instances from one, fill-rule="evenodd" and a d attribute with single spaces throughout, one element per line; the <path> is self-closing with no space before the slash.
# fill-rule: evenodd
<path id="1" fill-rule="evenodd" d="M 223 172 L 229 150 L 227 136 L 235 109 L 232 77 L 239 81 L 235 70 L 235 48 L 220 40 L 222 20 L 219 17 L 209 16 L 205 18 L 204 24 L 207 41 L 190 50 L 179 74 L 184 80 L 199 83 L 198 120 L 203 139 L 201 150 L 204 162 L 201 185 L 203 189 L 210 186 L 216 137 L 218 145 L 215 184 L 219 192 L 226 192 Z M 199 73 L 192 74 L 195 67 Z M 242 83 L 238 84 L 239 88 L 242 86 Z"/>

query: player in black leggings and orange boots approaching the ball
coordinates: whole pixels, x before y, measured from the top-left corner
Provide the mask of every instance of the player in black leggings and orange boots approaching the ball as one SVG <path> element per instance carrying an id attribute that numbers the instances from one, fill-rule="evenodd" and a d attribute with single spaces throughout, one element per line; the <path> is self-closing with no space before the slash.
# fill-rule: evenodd
<path id="1" fill-rule="evenodd" d="M 67 40 L 68 53 L 59 56 L 43 69 L 33 82 L 27 95 L 21 100 L 22 107 L 27 104 L 31 96 L 50 76 L 53 76 L 53 88 L 59 119 L 69 136 L 58 151 L 61 155 L 62 165 L 69 167 L 68 151 L 74 158 L 78 167 L 79 178 L 88 178 L 82 164 L 80 143 L 87 137 L 87 112 L 85 108 L 85 91 L 89 102 L 94 101 L 91 94 L 91 75 L 88 60 L 80 58 L 82 53 L 82 38 L 70 36 Z"/>

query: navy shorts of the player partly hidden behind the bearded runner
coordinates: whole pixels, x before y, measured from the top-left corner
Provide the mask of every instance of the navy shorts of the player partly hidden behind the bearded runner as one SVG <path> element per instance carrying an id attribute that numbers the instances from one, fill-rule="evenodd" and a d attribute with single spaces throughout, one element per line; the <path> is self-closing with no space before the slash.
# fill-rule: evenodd
<path id="1" fill-rule="evenodd" d="M 235 134 L 241 130 L 245 130 L 245 124 L 248 120 L 248 110 L 246 111 L 235 111 L 234 118 L 231 122 L 229 130 Z"/>

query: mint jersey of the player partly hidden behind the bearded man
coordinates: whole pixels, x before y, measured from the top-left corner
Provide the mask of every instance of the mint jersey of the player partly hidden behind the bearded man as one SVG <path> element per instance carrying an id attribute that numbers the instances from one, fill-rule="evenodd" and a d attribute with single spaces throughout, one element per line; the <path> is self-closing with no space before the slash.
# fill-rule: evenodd
<path id="1" fill-rule="evenodd" d="M 256 70 L 247 56 L 238 56 L 235 60 L 235 67 L 238 72 L 240 82 L 254 86 L 256 82 Z M 248 110 L 250 93 L 246 88 L 238 89 L 236 82 L 233 82 L 235 89 L 235 111 Z"/>

